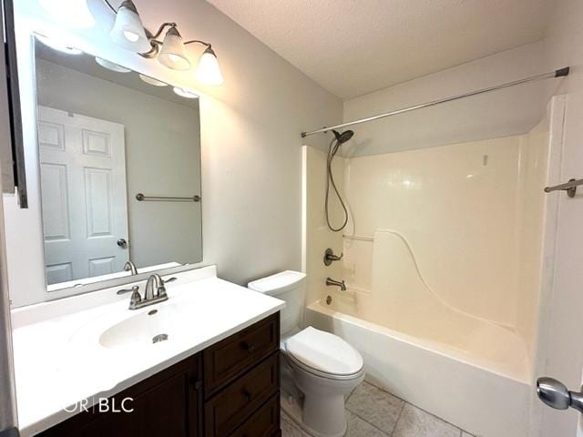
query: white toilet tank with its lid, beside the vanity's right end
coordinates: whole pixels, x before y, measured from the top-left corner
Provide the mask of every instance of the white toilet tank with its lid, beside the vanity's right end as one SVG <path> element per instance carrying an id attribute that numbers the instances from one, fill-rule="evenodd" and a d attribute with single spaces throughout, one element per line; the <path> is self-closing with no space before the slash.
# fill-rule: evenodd
<path id="1" fill-rule="evenodd" d="M 305 273 L 285 270 L 266 278 L 253 280 L 247 287 L 250 290 L 285 300 L 285 308 L 281 310 L 280 316 L 282 338 L 300 330 L 306 299 Z"/>

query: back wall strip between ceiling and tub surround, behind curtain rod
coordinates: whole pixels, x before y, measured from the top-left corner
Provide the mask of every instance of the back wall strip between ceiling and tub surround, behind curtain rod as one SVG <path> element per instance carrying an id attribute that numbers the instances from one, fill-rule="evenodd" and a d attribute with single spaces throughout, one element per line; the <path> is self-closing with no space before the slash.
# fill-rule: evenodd
<path id="1" fill-rule="evenodd" d="M 344 121 L 534 76 L 545 71 L 543 55 L 543 43 L 521 46 L 355 97 L 344 102 Z M 557 81 L 551 85 L 556 87 Z M 550 91 L 540 82 L 515 86 L 350 127 L 355 135 L 343 154 L 374 155 L 524 134 L 544 116 Z"/>

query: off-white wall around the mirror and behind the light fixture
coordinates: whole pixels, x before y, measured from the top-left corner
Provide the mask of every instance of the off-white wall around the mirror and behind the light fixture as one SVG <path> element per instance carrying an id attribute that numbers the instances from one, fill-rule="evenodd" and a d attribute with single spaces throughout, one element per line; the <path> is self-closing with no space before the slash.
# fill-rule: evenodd
<path id="1" fill-rule="evenodd" d="M 30 30 L 46 32 L 48 25 L 34 2 L 15 6 L 22 47 L 29 44 Z M 155 0 L 142 0 L 138 7 L 148 28 L 178 21 L 186 38 L 210 41 L 225 83 L 201 86 L 192 71 L 170 71 L 118 49 L 98 27 L 67 32 L 68 41 L 201 95 L 202 264 L 216 263 L 221 278 L 240 284 L 281 269 L 301 269 L 300 132 L 342 121 L 342 102 L 202 0 L 176 0 L 163 8 Z M 201 48 L 189 46 L 189 52 L 195 59 Z M 21 75 L 30 73 L 29 61 L 19 61 Z M 32 89 L 23 91 L 23 103 L 30 106 Z M 32 114 L 30 107 L 25 111 Z M 34 118 L 27 117 L 26 129 L 35 128 Z M 30 135 L 27 138 L 31 140 Z M 309 143 L 324 147 L 327 138 L 312 137 Z M 32 182 L 37 184 L 36 179 Z M 36 249 L 26 250 L 29 263 L 42 265 L 38 208 L 19 214 L 38 240 Z M 26 266 L 20 267 L 17 277 L 20 282 L 11 290 L 13 295 L 44 286 L 44 279 L 28 275 Z"/>

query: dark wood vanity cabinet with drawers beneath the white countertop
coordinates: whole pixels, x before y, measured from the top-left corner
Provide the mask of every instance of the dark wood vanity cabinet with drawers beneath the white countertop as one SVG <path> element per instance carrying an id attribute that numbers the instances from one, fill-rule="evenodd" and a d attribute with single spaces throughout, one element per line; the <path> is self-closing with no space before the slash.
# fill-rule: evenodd
<path id="1" fill-rule="evenodd" d="M 277 313 L 38 435 L 279 436 L 279 332 Z"/>

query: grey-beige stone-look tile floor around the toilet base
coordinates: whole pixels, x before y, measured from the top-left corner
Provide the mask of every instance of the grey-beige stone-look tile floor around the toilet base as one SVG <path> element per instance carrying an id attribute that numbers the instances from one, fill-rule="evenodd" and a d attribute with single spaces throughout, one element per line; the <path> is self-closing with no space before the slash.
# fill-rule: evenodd
<path id="1" fill-rule="evenodd" d="M 346 437 L 473 437 L 363 382 L 346 401 Z M 281 412 L 281 437 L 311 437 Z"/>

